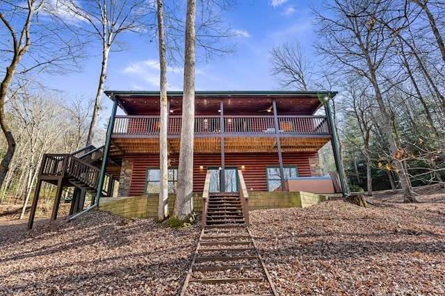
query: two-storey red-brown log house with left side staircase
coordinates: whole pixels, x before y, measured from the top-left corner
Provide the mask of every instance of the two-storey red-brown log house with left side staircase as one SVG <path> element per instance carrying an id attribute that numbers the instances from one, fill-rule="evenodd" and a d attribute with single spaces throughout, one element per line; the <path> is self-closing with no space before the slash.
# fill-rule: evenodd
<path id="1" fill-rule="evenodd" d="M 111 196 L 113 179 L 118 181 L 115 190 L 118 197 L 159 192 L 159 92 L 105 93 L 113 101 L 106 145 L 98 149 L 86 147 L 68 156 L 47 154 L 39 174 L 35 203 L 41 181 L 54 183 L 58 188 L 78 188 L 74 190 L 70 213 L 82 210 L 83 191 L 94 195 L 97 188 L 102 188 L 97 197 Z M 332 179 L 321 176 L 318 151 L 331 143 L 337 172 L 341 173 L 330 108 L 326 104 L 335 94 L 195 92 L 193 192 L 202 192 L 207 172 L 211 174 L 210 192 L 237 192 L 238 170 L 248 192 L 333 192 Z M 122 115 L 118 115 L 118 107 Z M 168 92 L 170 193 L 175 193 L 177 182 L 181 108 L 182 92 Z M 340 180 L 344 188 L 343 179 Z M 341 190 L 337 188 L 338 191 Z M 54 219 L 60 194 L 61 189 L 56 193 Z"/>

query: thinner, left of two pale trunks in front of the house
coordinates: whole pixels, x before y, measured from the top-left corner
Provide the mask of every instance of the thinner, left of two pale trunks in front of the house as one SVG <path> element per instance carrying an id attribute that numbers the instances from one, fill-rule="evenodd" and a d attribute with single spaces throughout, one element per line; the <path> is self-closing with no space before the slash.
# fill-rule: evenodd
<path id="1" fill-rule="evenodd" d="M 159 63 L 161 65 L 161 73 L 159 77 L 160 104 L 161 104 L 161 126 L 159 131 L 159 208 L 158 219 L 164 220 L 168 217 L 168 110 L 167 110 L 167 63 L 165 61 L 165 38 L 163 27 L 163 9 L 162 0 L 158 3 L 158 32 L 159 32 Z"/>

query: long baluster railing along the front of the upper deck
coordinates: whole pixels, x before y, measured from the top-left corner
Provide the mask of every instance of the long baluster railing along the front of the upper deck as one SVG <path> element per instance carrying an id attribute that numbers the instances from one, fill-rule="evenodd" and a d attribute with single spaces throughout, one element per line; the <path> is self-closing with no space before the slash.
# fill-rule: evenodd
<path id="1" fill-rule="evenodd" d="M 196 116 L 195 135 L 214 133 L 229 134 L 307 134 L 328 135 L 331 133 L 325 116 L 278 116 L 275 126 L 273 116 Z M 114 135 L 159 135 L 159 117 L 116 116 Z M 181 117 L 170 116 L 168 134 L 180 135 Z"/>

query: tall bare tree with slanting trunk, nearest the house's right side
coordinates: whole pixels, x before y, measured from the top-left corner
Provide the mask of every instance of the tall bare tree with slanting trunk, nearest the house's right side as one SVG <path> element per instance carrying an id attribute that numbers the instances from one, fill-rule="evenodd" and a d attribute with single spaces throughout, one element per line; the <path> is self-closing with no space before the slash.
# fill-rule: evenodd
<path id="1" fill-rule="evenodd" d="M 372 85 L 391 154 L 396 156 L 398 146 L 382 91 L 382 80 L 385 77 L 381 75 L 393 46 L 393 39 L 388 37 L 385 27 L 377 22 L 377 19 L 387 19 L 388 22 L 396 23 L 402 18 L 391 15 L 394 13 L 394 9 L 390 9 L 392 4 L 391 0 L 371 3 L 365 0 L 335 0 L 332 5 L 326 1 L 324 8 L 325 11 L 330 11 L 330 15 L 316 13 L 316 18 L 323 43 L 318 45 L 318 50 L 339 63 L 339 67 L 343 67 L 346 72 L 364 76 Z M 400 25 L 394 24 L 392 27 L 395 26 Z M 404 201 L 415 202 L 410 178 L 403 163 L 395 157 L 394 165 L 403 189 Z"/>

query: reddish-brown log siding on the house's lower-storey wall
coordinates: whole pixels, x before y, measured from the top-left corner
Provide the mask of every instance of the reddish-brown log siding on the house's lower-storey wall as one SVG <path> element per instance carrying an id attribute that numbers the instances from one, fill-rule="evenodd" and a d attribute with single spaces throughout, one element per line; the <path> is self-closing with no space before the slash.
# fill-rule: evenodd
<path id="1" fill-rule="evenodd" d="M 296 165 L 299 176 L 312 176 L 309 158 L 316 157 L 313 153 L 283 154 L 283 165 Z M 170 167 L 177 167 L 178 154 L 168 157 Z M 159 167 L 158 154 L 128 154 L 124 158 L 133 162 L 133 171 L 129 188 L 129 196 L 143 195 L 145 190 L 145 174 L 147 167 Z M 203 169 L 200 170 L 200 165 Z M 202 192 L 207 167 L 220 167 L 220 154 L 195 155 L 193 167 L 193 192 Z M 243 176 L 248 190 L 267 191 L 266 167 L 278 166 L 277 154 L 225 154 L 225 167 L 245 166 Z"/>

